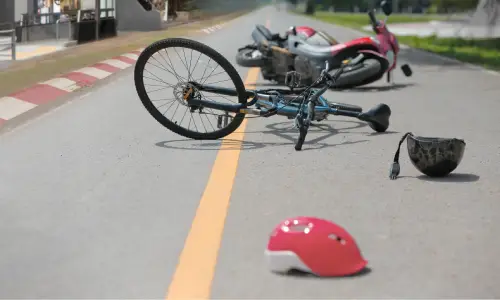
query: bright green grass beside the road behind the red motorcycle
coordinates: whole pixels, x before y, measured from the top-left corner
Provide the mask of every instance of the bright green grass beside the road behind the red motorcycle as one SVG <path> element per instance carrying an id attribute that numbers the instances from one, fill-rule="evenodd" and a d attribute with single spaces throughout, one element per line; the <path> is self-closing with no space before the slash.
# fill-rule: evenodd
<path id="1" fill-rule="evenodd" d="M 314 15 L 314 18 L 361 31 L 364 31 L 362 27 L 369 25 L 368 16 L 366 14 L 354 15 L 318 12 Z M 377 16 L 377 18 L 383 18 L 383 16 L 380 15 Z M 390 22 L 413 23 L 442 19 L 442 16 L 437 15 L 391 15 Z M 372 31 L 369 31 L 369 33 L 373 34 Z M 398 36 L 398 40 L 401 44 L 406 44 L 413 48 L 455 58 L 460 61 L 480 65 L 488 69 L 500 70 L 500 38 L 463 39 L 438 38 L 436 36 Z"/>

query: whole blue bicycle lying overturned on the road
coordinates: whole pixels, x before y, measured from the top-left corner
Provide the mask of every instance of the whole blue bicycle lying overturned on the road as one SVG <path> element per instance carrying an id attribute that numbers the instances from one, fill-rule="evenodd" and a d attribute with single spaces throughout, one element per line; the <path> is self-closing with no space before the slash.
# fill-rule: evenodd
<path id="1" fill-rule="evenodd" d="M 187 62 L 184 64 L 188 68 L 187 79 L 177 74 L 177 68 L 174 67 L 170 56 L 167 59 L 163 56 L 162 50 L 169 55 L 170 50 L 175 50 L 175 48 L 181 48 L 184 57 L 186 57 L 186 50 L 191 50 L 191 61 L 189 63 L 189 68 Z M 234 85 L 234 88 L 227 88 L 222 86 L 216 86 L 213 84 L 207 84 L 207 78 L 203 75 L 201 79 L 194 79 L 194 75 L 191 74 L 191 64 L 193 59 L 193 51 L 200 52 L 198 61 L 196 65 L 199 64 L 201 55 L 205 55 L 209 58 L 207 65 L 210 65 L 211 61 L 214 61 L 221 66 L 224 71 L 229 75 L 229 80 Z M 172 55 L 174 51 L 170 51 Z M 168 84 L 174 89 L 173 100 L 169 103 L 172 107 L 177 103 L 177 108 L 175 109 L 174 116 L 179 108 L 183 106 L 186 108 L 184 116 L 182 117 L 181 123 L 186 117 L 187 112 L 190 113 L 191 122 L 195 122 L 196 119 L 193 114 L 198 112 L 201 121 L 203 122 L 203 116 L 208 119 L 208 115 L 217 116 L 217 129 L 212 125 L 213 131 L 208 132 L 205 124 L 205 132 L 193 131 L 188 125 L 188 128 L 184 128 L 178 124 L 178 121 L 172 121 L 165 116 L 165 113 L 161 113 L 158 108 L 154 106 L 154 99 L 152 100 L 146 86 L 155 86 L 155 84 L 145 84 L 145 67 L 148 64 L 149 59 L 151 59 L 155 54 L 160 53 L 160 56 L 165 59 L 167 65 L 172 67 L 173 72 L 169 71 L 176 79 L 179 81 L 177 84 Z M 181 55 L 175 50 L 175 53 L 179 57 Z M 386 104 L 378 104 L 372 109 L 363 112 L 358 106 L 330 103 L 322 95 L 335 84 L 336 79 L 342 73 L 343 69 L 347 66 L 355 65 L 363 59 L 363 54 L 352 60 L 346 60 L 342 62 L 341 67 L 332 76 L 327 71 L 329 70 L 328 62 L 325 63 L 325 69 L 321 72 L 321 76 L 310 86 L 298 88 L 298 83 L 300 82 L 300 76 L 296 72 L 289 72 L 287 74 L 287 85 L 289 90 L 285 89 L 246 89 L 241 77 L 234 68 L 234 66 L 219 52 L 213 48 L 194 40 L 185 38 L 169 38 L 160 40 L 149 45 L 145 48 L 139 55 L 134 69 L 134 82 L 137 94 L 143 103 L 147 111 L 158 121 L 160 124 L 171 130 L 172 132 L 179 134 L 181 136 L 195 139 L 195 140 L 214 140 L 223 138 L 232 132 L 234 132 L 243 122 L 246 115 L 254 115 L 254 117 L 271 117 L 274 115 L 286 116 L 289 119 L 294 119 L 295 127 L 299 131 L 299 138 L 295 144 L 295 150 L 299 151 L 302 149 L 302 145 L 305 141 L 305 137 L 309 130 L 309 126 L 313 121 L 321 121 L 326 119 L 328 115 L 339 115 L 357 118 L 362 120 L 376 132 L 385 132 L 389 127 L 389 118 L 391 115 L 391 109 Z M 159 59 L 156 59 L 159 61 Z M 205 60 L 202 60 L 205 63 Z M 159 67 L 158 67 L 159 68 Z M 196 66 L 195 66 L 196 68 Z M 205 68 L 205 72 L 206 69 Z M 218 67 L 211 67 L 212 73 Z M 162 68 L 159 68 L 162 69 Z M 149 71 L 148 71 L 149 72 Z M 193 69 L 194 72 L 194 69 Z M 203 74 L 205 74 L 205 72 Z M 149 72 L 151 73 L 151 72 Z M 175 73 L 175 74 L 174 74 Z M 153 73 L 151 73 L 153 74 Z M 153 74 L 154 75 L 154 74 Z M 154 75 L 157 82 L 164 82 L 160 77 Z M 149 78 L 149 77 L 147 77 Z M 150 78 L 153 79 L 153 78 Z M 166 82 L 165 82 L 166 83 Z M 319 89 L 315 89 L 316 86 L 322 86 Z M 213 93 L 219 95 L 219 97 L 225 98 L 225 96 L 237 97 L 238 103 L 236 104 L 223 104 L 215 101 L 207 101 L 205 98 L 205 93 Z M 248 101 L 251 99 L 250 101 Z M 218 113 L 220 112 L 220 113 Z M 230 115 L 230 114 L 234 115 Z M 247 117 L 250 118 L 250 117 Z M 196 124 L 194 125 L 196 130 L 198 130 Z"/>

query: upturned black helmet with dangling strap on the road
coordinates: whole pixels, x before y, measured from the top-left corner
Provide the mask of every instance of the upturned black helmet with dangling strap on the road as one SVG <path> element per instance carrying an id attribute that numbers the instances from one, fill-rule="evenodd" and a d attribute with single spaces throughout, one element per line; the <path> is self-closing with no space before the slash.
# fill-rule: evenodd
<path id="1" fill-rule="evenodd" d="M 406 146 L 412 164 L 422 173 L 431 177 L 443 177 L 455 170 L 460 164 L 465 151 L 465 142 L 455 138 L 429 138 L 406 133 L 399 141 L 394 155 L 389 178 L 399 175 L 399 149 L 408 137 Z"/>

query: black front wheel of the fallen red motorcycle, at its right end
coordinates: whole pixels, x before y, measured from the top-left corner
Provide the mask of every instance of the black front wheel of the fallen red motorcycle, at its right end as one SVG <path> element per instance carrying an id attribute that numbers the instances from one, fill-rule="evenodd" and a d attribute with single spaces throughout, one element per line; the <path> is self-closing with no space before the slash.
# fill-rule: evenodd
<path id="1" fill-rule="evenodd" d="M 361 67 L 354 66 L 353 70 L 345 70 L 337 79 L 333 89 L 349 89 L 373 82 L 373 78 L 382 77 L 381 64 L 376 59 L 365 59 L 360 62 Z M 336 70 L 330 71 L 334 74 Z M 377 76 L 380 75 L 380 76 Z"/>

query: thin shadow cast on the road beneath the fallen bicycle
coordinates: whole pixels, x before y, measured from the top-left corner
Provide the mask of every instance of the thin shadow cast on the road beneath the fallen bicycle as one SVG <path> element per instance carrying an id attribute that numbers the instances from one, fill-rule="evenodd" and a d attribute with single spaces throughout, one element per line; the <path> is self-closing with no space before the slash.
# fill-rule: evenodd
<path id="1" fill-rule="evenodd" d="M 358 144 L 365 143 L 369 140 L 358 140 L 358 141 L 344 141 L 341 143 L 325 143 L 322 142 L 327 138 L 334 136 L 337 133 L 351 133 L 354 136 L 362 134 L 364 136 L 374 136 L 380 134 L 392 134 L 397 133 L 394 131 L 388 131 L 385 133 L 377 133 L 377 132 L 349 132 L 348 130 L 353 130 L 357 128 L 366 127 L 366 123 L 357 122 L 357 121 L 336 121 L 335 123 L 344 122 L 344 123 L 353 123 L 354 126 L 335 129 L 330 124 L 313 124 L 310 129 L 306 141 L 304 143 L 304 147 L 302 151 L 308 150 L 319 150 L 329 147 L 337 147 L 342 145 L 350 145 L 350 144 Z M 265 147 L 276 147 L 276 146 L 293 146 L 296 143 L 298 138 L 297 129 L 292 127 L 291 122 L 278 122 L 269 124 L 266 126 L 269 130 L 264 131 L 246 131 L 245 134 L 251 135 L 254 133 L 258 134 L 272 134 L 277 137 L 275 142 L 255 142 L 255 141 L 240 141 L 234 139 L 220 139 L 220 140 L 212 140 L 212 141 L 196 141 L 192 139 L 180 139 L 180 140 L 171 140 L 171 141 L 162 141 L 156 143 L 156 146 L 168 149 L 177 149 L 177 150 L 202 150 L 202 151 L 219 151 L 219 150 L 254 150 Z M 324 134 L 322 134 L 324 132 Z M 318 136 L 318 134 L 321 134 Z M 221 148 L 221 145 L 224 143 L 224 147 Z"/>

